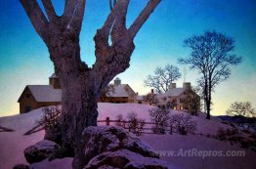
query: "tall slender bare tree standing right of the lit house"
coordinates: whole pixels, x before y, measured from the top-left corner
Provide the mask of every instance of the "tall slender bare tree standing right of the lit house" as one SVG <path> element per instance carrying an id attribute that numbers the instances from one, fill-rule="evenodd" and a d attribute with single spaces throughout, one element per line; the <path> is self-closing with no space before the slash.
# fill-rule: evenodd
<path id="1" fill-rule="evenodd" d="M 229 78 L 230 66 L 240 63 L 241 58 L 232 53 L 235 49 L 233 38 L 216 31 L 205 31 L 203 35 L 194 35 L 186 39 L 184 45 L 191 48 L 192 53 L 179 62 L 189 64 L 201 75 L 198 83 L 203 88 L 206 118 L 210 119 L 214 88 Z"/>

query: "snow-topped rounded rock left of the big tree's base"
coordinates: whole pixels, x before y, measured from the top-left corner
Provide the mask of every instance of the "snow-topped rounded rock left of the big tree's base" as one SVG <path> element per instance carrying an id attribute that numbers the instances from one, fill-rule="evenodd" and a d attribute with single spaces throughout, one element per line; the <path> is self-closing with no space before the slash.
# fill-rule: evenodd
<path id="1" fill-rule="evenodd" d="M 43 140 L 37 144 L 24 149 L 24 156 L 27 162 L 34 163 L 42 161 L 53 153 L 54 150 L 61 148 L 54 142 Z"/>

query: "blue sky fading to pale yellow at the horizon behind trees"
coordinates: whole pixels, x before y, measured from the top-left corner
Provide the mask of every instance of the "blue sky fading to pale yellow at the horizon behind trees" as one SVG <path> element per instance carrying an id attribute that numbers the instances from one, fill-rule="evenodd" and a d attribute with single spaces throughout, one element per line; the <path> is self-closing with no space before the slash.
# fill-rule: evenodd
<path id="1" fill-rule="evenodd" d="M 54 0 L 62 14 L 64 0 Z M 127 26 L 147 0 L 131 0 Z M 93 37 L 109 13 L 108 0 L 87 0 L 80 46 L 82 60 L 95 62 Z M 217 86 L 213 113 L 224 114 L 235 101 L 256 106 L 256 1 L 255 0 L 162 0 L 135 39 L 131 66 L 118 76 L 140 94 L 149 92 L 143 80 L 156 66 L 176 64 L 186 81 L 195 84 L 195 71 L 179 65 L 177 59 L 190 54 L 183 40 L 205 30 L 216 30 L 235 39 L 234 53 L 243 62 L 232 68 L 230 78 Z M 19 0 L 0 1 L 0 116 L 19 113 L 17 103 L 27 84 L 48 84 L 54 71 L 48 50 L 34 31 Z M 182 86 L 184 76 L 177 81 Z"/>

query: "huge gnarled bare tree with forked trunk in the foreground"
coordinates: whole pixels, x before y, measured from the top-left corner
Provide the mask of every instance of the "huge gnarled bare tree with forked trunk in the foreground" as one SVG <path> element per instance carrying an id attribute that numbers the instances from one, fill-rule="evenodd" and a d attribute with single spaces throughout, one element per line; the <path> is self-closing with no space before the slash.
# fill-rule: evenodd
<path id="1" fill-rule="evenodd" d="M 48 47 L 55 71 L 63 87 L 63 148 L 74 151 L 73 168 L 84 164 L 84 145 L 80 144 L 85 127 L 97 125 L 97 101 L 110 80 L 129 67 L 135 45 L 133 40 L 149 19 L 160 0 L 149 0 L 132 25 L 126 27 L 129 0 L 114 1 L 111 12 L 95 40 L 96 63 L 89 67 L 80 58 L 79 34 L 86 0 L 65 0 L 64 13 L 58 16 L 51 0 L 42 0 L 47 16 L 36 0 L 21 0 L 36 32 Z M 110 4 L 111 1 L 110 1 Z M 111 44 L 108 44 L 108 37 Z"/>

